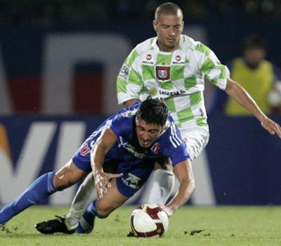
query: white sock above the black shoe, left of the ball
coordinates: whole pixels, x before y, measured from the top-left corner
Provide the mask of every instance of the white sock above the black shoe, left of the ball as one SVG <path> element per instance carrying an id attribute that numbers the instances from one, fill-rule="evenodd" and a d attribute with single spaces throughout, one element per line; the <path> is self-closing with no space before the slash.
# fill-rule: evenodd
<path id="1" fill-rule="evenodd" d="M 72 201 L 70 212 L 65 216 L 65 225 L 68 230 L 77 228 L 79 219 L 86 211 L 90 202 L 93 202 L 96 198 L 95 182 L 93 180 L 93 174 L 90 173 L 86 176 L 84 182 L 81 183 L 81 186 L 79 186 L 74 200 Z"/>

